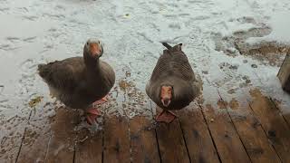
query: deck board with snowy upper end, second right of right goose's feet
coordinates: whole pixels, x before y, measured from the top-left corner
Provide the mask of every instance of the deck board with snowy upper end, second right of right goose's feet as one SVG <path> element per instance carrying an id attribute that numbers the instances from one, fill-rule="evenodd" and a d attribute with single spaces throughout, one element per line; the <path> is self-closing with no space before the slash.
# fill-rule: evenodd
<path id="1" fill-rule="evenodd" d="M 227 110 L 220 109 L 218 91 L 211 86 L 204 87 L 205 102 L 202 106 L 212 138 L 222 162 L 250 162 L 247 151 L 237 134 Z"/>

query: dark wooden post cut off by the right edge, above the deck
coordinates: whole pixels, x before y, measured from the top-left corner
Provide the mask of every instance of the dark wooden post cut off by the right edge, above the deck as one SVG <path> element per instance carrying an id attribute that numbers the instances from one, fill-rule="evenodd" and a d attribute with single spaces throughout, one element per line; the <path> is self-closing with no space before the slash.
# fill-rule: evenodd
<path id="1" fill-rule="evenodd" d="M 290 50 L 285 56 L 285 60 L 277 74 L 283 90 L 290 93 Z"/>

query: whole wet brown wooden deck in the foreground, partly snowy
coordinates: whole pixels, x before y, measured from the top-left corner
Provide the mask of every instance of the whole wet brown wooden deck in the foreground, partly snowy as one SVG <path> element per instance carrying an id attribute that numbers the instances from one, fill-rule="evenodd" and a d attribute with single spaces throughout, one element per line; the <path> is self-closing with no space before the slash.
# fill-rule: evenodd
<path id="1" fill-rule="evenodd" d="M 257 89 L 233 96 L 207 89 L 210 96 L 177 111 L 170 124 L 156 123 L 153 111 L 132 119 L 104 116 L 92 134 L 75 129 L 78 111 L 58 109 L 50 119 L 36 112 L 22 123 L 14 152 L 5 153 L 1 142 L 0 162 L 290 162 L 290 115 L 278 102 Z M 42 120 L 48 121 L 39 125 Z"/>

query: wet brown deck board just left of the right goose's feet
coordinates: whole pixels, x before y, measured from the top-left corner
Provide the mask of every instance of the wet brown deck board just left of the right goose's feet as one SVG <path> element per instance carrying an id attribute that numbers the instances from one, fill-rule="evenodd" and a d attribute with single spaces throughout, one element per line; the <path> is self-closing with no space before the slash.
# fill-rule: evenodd
<path id="1" fill-rule="evenodd" d="M 160 162 L 156 132 L 151 121 L 151 116 L 136 116 L 130 120 L 132 162 Z"/>

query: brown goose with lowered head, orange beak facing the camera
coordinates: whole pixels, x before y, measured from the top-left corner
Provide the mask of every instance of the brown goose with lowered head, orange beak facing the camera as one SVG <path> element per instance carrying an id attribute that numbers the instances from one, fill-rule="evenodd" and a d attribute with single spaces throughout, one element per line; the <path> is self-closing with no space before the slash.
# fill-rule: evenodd
<path id="1" fill-rule="evenodd" d="M 163 51 L 152 72 L 146 93 L 163 109 L 156 120 L 169 123 L 176 118 L 170 110 L 181 110 L 189 105 L 198 96 L 199 88 L 188 57 L 181 51 L 182 43 L 173 47 L 162 44 L 167 50 Z"/>

